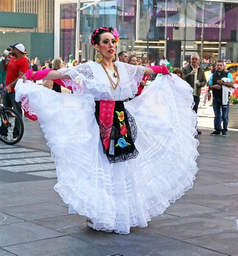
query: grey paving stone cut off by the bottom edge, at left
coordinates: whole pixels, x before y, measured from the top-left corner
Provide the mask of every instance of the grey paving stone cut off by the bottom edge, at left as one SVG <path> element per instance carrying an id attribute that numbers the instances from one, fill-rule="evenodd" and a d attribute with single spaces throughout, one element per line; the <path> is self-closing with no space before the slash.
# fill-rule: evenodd
<path id="1" fill-rule="evenodd" d="M 60 255 L 60 256 L 105 256 L 114 251 L 93 245 L 75 237 L 63 236 L 6 247 L 18 256 Z"/>

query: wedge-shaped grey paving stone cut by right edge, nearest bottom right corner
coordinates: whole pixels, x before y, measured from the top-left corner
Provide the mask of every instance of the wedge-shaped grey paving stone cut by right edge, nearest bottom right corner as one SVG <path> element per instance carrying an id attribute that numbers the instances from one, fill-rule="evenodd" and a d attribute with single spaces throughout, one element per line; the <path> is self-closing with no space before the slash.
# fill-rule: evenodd
<path id="1" fill-rule="evenodd" d="M 186 239 L 184 241 L 216 250 L 229 255 L 234 255 L 238 251 L 237 231 L 226 231 L 218 234 L 209 234 L 201 237 Z M 237 255 L 237 254 L 236 254 Z"/>

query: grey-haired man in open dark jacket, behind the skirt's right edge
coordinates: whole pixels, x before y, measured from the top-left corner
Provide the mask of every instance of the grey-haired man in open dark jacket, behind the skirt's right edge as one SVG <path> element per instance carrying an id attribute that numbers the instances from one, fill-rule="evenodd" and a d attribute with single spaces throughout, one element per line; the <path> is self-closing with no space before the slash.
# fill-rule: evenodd
<path id="1" fill-rule="evenodd" d="M 184 79 L 190 86 L 193 88 L 193 100 L 194 106 L 193 110 L 197 113 L 198 105 L 200 102 L 201 88 L 206 84 L 206 77 L 204 71 L 199 67 L 199 55 L 194 53 L 191 55 L 191 64 L 185 66 L 182 70 Z M 197 130 L 198 134 L 201 134 L 201 131 Z"/>

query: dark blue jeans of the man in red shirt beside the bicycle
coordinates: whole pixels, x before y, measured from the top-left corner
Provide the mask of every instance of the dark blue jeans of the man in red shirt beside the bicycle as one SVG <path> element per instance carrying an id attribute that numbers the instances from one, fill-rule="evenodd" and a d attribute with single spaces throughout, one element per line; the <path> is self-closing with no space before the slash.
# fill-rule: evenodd
<path id="1" fill-rule="evenodd" d="M 8 93 L 3 92 L 3 105 L 7 108 L 13 108 L 22 118 L 22 107 L 19 102 L 15 101 L 15 93 Z M 17 137 L 20 134 L 20 123 L 18 119 L 16 119 L 15 126 L 13 129 L 13 137 Z M 8 135 L 8 129 L 1 129 L 1 135 L 7 136 Z"/>

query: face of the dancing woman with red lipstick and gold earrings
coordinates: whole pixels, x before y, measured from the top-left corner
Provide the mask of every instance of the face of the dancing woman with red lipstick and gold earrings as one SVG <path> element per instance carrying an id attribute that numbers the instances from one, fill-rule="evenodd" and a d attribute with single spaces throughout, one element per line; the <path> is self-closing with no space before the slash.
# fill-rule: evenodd
<path id="1" fill-rule="evenodd" d="M 113 57 L 116 49 L 114 36 L 109 32 L 101 34 L 99 45 L 96 44 L 95 48 L 100 51 L 105 58 Z"/>

